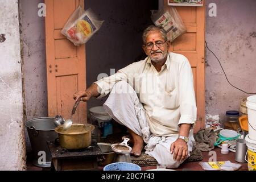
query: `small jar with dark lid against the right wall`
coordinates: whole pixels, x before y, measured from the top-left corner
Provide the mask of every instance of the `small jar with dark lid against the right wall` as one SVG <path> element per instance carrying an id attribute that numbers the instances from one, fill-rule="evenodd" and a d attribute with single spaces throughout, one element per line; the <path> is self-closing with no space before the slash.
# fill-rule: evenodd
<path id="1" fill-rule="evenodd" d="M 224 128 L 229 130 L 238 131 L 240 129 L 239 111 L 237 110 L 228 110 L 226 111 L 226 121 L 224 122 Z"/>

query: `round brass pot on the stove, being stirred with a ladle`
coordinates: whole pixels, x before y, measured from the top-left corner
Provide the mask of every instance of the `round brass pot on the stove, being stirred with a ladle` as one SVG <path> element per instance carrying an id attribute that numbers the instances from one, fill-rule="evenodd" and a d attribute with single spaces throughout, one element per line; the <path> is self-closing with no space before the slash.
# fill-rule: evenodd
<path id="1" fill-rule="evenodd" d="M 73 124 L 68 130 L 63 125 L 57 126 L 55 132 L 59 135 L 60 146 L 69 150 L 86 148 L 92 144 L 92 131 L 94 126 L 90 124 Z"/>

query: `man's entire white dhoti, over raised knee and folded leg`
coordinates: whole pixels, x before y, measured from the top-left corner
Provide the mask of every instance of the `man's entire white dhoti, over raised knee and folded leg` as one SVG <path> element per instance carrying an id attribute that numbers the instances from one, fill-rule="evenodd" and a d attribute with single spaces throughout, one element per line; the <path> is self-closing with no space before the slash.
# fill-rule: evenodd
<path id="1" fill-rule="evenodd" d="M 129 90 L 129 93 L 122 93 L 122 90 Z M 143 137 L 144 142 L 147 143 L 146 154 L 154 157 L 158 163 L 166 164 L 167 168 L 179 167 L 181 162 L 174 161 L 170 152 L 171 144 L 177 137 L 156 137 L 150 134 L 146 112 L 139 102 L 137 94 L 127 82 L 117 82 L 103 106 L 115 121 Z M 189 134 L 188 156 L 192 151 L 192 141 L 193 131 Z"/>

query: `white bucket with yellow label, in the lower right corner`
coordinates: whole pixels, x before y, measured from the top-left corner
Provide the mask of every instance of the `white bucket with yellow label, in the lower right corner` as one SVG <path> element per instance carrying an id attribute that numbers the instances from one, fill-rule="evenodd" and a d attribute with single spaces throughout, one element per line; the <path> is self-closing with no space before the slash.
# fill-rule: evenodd
<path id="1" fill-rule="evenodd" d="M 247 150 L 247 159 L 245 156 L 245 160 L 248 162 L 248 170 L 256 171 L 256 141 L 249 138 L 249 135 L 246 135 L 246 146 Z"/>

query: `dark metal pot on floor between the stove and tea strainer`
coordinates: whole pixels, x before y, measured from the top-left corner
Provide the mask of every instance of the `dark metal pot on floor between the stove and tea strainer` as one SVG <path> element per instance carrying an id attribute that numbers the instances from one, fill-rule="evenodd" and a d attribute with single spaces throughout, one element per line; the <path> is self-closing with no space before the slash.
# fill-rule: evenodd
<path id="1" fill-rule="evenodd" d="M 103 158 L 98 162 L 98 166 L 106 166 L 110 163 L 113 163 L 115 153 L 112 151 L 111 143 L 99 142 L 98 146 L 101 148 L 101 151 L 104 154 Z"/>

